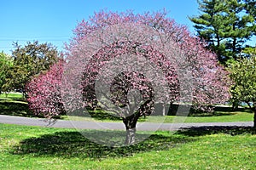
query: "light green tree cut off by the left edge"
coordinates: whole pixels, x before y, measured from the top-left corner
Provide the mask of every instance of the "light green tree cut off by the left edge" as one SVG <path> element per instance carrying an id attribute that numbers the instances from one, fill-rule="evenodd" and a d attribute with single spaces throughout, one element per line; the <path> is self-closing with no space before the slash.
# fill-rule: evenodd
<path id="1" fill-rule="evenodd" d="M 13 66 L 13 59 L 8 54 L 0 53 L 0 94 L 7 92 L 7 78 L 9 77 L 9 71 Z"/>

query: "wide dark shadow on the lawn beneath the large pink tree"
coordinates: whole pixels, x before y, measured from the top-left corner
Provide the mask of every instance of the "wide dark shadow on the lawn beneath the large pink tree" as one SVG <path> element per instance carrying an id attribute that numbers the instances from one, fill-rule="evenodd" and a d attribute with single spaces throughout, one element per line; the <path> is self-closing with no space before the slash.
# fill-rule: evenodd
<path id="1" fill-rule="evenodd" d="M 115 131 L 94 131 L 85 132 L 86 135 L 94 135 L 102 133 L 102 136 L 119 136 L 122 132 Z M 137 138 L 143 134 L 137 134 Z M 107 157 L 124 157 L 132 156 L 139 152 L 147 152 L 152 150 L 168 150 L 177 146 L 177 144 L 188 143 L 195 139 L 183 136 L 172 136 L 171 134 L 161 135 L 154 134 L 148 139 L 138 144 L 123 147 L 108 147 L 102 144 L 96 144 L 79 132 L 57 132 L 45 134 L 39 138 L 25 139 L 16 145 L 11 152 L 15 155 L 32 154 L 33 156 L 61 156 L 61 157 L 83 157 L 90 159 L 104 159 Z"/>

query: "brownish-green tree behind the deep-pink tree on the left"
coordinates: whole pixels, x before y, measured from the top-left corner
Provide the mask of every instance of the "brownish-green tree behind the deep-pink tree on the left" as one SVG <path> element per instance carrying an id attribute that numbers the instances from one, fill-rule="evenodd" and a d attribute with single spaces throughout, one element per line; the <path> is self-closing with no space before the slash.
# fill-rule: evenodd
<path id="1" fill-rule="evenodd" d="M 8 78 L 8 87 L 11 90 L 20 89 L 26 94 L 26 83 L 33 76 L 40 74 L 42 71 L 49 70 L 59 58 L 58 51 L 49 43 L 27 42 L 24 47 L 18 43 L 14 44 L 15 50 L 12 52 L 14 65 L 10 70 Z"/>

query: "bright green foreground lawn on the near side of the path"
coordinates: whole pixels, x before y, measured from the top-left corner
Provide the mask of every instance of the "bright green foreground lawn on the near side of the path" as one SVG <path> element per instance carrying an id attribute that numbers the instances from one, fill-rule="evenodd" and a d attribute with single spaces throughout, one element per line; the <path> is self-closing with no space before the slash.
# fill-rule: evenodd
<path id="1" fill-rule="evenodd" d="M 0 169 L 254 169 L 256 162 L 251 127 L 161 131 L 119 148 L 73 129 L 0 124 L 0 132 Z"/>

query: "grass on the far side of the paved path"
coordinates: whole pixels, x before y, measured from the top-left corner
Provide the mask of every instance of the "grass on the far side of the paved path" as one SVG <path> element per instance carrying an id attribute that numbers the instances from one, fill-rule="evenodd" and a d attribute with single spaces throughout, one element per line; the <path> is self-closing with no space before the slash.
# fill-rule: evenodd
<path id="1" fill-rule="evenodd" d="M 0 94 L 0 114 L 11 116 L 26 116 L 36 117 L 29 111 L 26 100 L 20 93 Z M 96 111 L 96 116 L 92 121 L 97 122 L 121 122 L 120 119 L 109 118 L 109 116 L 102 116 L 101 111 Z M 146 119 L 141 117 L 139 122 L 166 122 L 172 123 L 176 116 L 147 116 Z M 90 118 L 84 116 L 61 116 L 64 120 L 74 121 L 91 121 Z M 212 114 L 199 114 L 187 117 L 179 117 L 179 120 L 184 122 L 251 122 L 253 121 L 253 114 L 248 111 L 216 111 Z"/>

